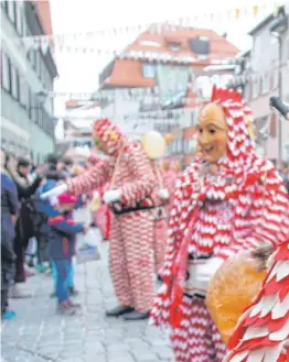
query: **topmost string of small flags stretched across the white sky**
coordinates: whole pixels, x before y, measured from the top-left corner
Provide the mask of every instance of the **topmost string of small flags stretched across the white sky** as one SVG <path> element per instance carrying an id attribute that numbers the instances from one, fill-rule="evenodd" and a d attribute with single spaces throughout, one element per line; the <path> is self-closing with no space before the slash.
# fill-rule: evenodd
<path id="1" fill-rule="evenodd" d="M 278 14 L 279 9 L 286 6 L 286 0 L 276 2 L 275 4 L 251 4 L 249 7 L 232 8 L 227 11 L 206 12 L 203 14 L 195 14 L 186 18 L 179 18 L 168 20 L 163 23 L 154 24 L 138 24 L 135 26 L 120 26 L 111 28 L 108 30 L 86 32 L 86 33 L 66 33 L 66 34 L 52 34 L 40 36 L 22 37 L 21 42 L 24 44 L 26 51 L 39 50 L 45 54 L 46 52 L 66 52 L 66 53 L 86 53 L 98 55 L 114 55 L 120 56 L 122 52 L 111 48 L 84 46 L 84 44 L 99 44 L 99 41 L 106 37 L 127 36 L 129 34 L 140 34 L 148 31 L 152 34 L 159 34 L 163 31 L 175 31 L 180 28 L 192 29 L 192 26 L 204 26 L 204 23 L 210 22 L 211 26 L 214 24 L 224 24 L 227 21 L 246 20 L 248 18 L 258 19 L 269 13 Z M 107 44 L 106 44 L 107 46 Z"/>

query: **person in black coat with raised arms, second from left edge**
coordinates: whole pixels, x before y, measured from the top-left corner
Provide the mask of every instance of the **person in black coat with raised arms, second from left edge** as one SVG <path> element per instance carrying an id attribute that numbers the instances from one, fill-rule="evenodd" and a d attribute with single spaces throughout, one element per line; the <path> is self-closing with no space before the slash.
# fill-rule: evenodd
<path id="1" fill-rule="evenodd" d="M 33 183 L 29 183 L 30 162 L 23 157 L 19 157 L 17 168 L 14 168 L 13 164 L 8 162 L 8 171 L 17 185 L 19 198 L 19 218 L 17 221 L 14 239 L 14 252 L 17 254 L 14 276 L 15 286 L 12 289 L 11 297 L 23 298 L 29 297 L 29 295 L 21 293 L 17 287 L 17 284 L 25 282 L 24 254 L 29 240 L 35 237 L 31 196 L 40 186 L 42 177 L 40 175 L 40 169 L 36 169 Z"/>

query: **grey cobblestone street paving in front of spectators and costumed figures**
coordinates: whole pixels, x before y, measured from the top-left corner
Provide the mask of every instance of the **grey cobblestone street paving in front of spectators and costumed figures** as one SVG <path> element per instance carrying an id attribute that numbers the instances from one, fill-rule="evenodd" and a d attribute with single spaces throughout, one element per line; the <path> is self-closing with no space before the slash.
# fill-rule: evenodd
<path id="1" fill-rule="evenodd" d="M 116 304 L 107 248 L 101 243 L 101 261 L 76 266 L 76 300 L 83 306 L 76 316 L 56 315 L 51 276 L 29 278 L 32 298 L 11 300 L 18 317 L 2 323 L 2 362 L 174 361 L 168 336 L 147 321 L 105 317 Z"/>

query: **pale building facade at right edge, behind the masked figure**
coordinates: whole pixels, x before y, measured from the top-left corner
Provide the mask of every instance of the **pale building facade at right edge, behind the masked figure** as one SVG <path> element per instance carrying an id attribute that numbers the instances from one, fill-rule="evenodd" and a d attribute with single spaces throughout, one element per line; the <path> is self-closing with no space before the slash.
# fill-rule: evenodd
<path id="1" fill-rule="evenodd" d="M 257 139 L 259 132 L 268 128 L 268 139 L 264 141 L 260 136 L 257 147 L 260 154 L 271 160 L 289 157 L 289 133 L 283 132 L 286 125 L 280 129 L 278 117 L 269 108 L 270 97 L 280 96 L 286 99 L 289 92 L 289 84 L 286 81 L 286 62 L 289 58 L 288 26 L 285 26 L 280 34 L 275 31 L 276 24 L 282 19 L 285 13 L 280 10 L 279 14 L 268 15 L 249 32 L 253 48 L 248 59 L 245 98 L 253 110 Z M 285 22 L 288 22 L 288 15 Z"/>

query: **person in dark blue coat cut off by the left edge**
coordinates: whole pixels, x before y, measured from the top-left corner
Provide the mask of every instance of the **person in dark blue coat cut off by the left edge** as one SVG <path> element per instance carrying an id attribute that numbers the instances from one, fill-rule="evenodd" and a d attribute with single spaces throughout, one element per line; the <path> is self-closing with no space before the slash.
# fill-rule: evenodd
<path id="1" fill-rule="evenodd" d="M 15 312 L 8 309 L 8 292 L 13 283 L 15 254 L 15 218 L 18 213 L 17 186 L 4 168 L 6 153 L 1 150 L 1 316 L 11 319 Z"/>

